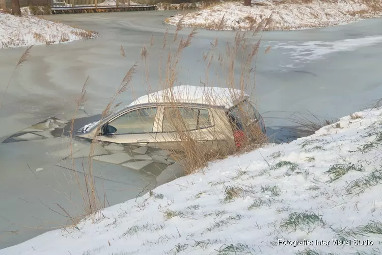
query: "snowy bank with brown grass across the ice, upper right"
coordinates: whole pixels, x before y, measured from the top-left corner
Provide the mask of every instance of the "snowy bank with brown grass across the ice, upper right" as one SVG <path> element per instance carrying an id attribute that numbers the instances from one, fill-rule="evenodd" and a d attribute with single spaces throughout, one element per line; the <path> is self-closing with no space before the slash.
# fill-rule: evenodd
<path id="1" fill-rule="evenodd" d="M 252 6 L 243 6 L 241 2 L 218 2 L 201 11 L 170 17 L 166 22 L 176 25 L 183 17 L 182 24 L 186 27 L 213 30 L 224 16 L 223 30 L 248 30 L 256 28 L 262 19 L 271 17 L 266 30 L 295 30 L 345 24 L 376 17 L 381 12 L 380 0 L 262 0 L 253 2 Z"/>

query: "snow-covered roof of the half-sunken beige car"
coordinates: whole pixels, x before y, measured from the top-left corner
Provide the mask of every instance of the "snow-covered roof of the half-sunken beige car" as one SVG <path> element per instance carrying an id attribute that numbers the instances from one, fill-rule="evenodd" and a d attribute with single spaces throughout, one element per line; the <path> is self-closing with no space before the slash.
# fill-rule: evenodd
<path id="1" fill-rule="evenodd" d="M 139 97 L 127 107 L 143 104 L 198 104 L 229 109 L 249 95 L 239 89 L 181 85 Z"/>

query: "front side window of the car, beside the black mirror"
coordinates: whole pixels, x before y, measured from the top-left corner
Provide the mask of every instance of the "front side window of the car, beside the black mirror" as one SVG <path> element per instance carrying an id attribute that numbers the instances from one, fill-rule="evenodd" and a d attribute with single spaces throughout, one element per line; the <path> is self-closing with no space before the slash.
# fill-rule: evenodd
<path id="1" fill-rule="evenodd" d="M 128 112 L 109 125 L 117 129 L 117 134 L 142 134 L 153 130 L 157 108 L 143 108 Z"/>

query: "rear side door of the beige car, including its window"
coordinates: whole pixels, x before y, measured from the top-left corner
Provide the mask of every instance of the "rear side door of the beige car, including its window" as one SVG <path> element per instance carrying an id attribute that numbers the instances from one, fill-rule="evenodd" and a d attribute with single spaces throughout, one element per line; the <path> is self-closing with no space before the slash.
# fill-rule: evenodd
<path id="1" fill-rule="evenodd" d="M 162 106 L 158 119 L 156 148 L 182 150 L 187 139 L 205 145 L 213 140 L 213 119 L 207 108 Z"/>

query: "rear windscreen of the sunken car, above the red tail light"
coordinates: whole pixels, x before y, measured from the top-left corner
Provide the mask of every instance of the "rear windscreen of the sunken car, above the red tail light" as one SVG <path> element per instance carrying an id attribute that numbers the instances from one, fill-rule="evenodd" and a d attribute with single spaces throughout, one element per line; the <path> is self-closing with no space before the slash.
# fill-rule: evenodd
<path id="1" fill-rule="evenodd" d="M 236 106 L 230 108 L 228 116 L 239 130 L 243 129 L 243 125 L 249 125 L 260 119 L 259 112 L 248 100 L 241 101 Z"/>

